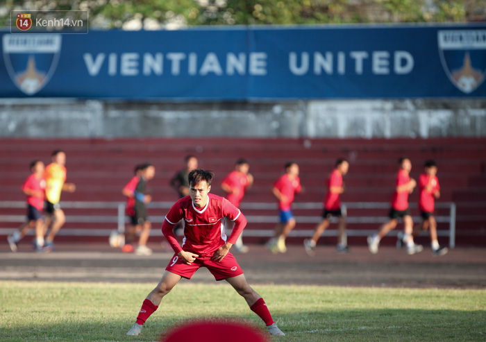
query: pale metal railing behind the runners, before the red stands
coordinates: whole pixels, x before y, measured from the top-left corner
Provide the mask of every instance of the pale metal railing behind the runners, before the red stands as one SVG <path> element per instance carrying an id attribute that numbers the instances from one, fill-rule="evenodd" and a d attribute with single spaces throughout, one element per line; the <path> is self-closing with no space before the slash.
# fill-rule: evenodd
<path id="1" fill-rule="evenodd" d="M 159 210 L 169 210 L 173 205 L 173 202 L 153 202 L 149 203 L 147 207 L 151 209 Z M 11 208 L 20 209 L 25 208 L 26 204 L 23 201 L 0 201 L 0 208 Z M 62 202 L 61 207 L 65 209 L 106 209 L 106 210 L 116 210 L 116 214 L 110 215 L 72 215 L 68 214 L 66 216 L 66 222 L 69 223 L 108 223 L 112 225 L 112 229 L 117 227 L 119 232 L 124 232 L 125 225 L 128 223 L 128 218 L 125 216 L 125 204 L 119 202 Z M 417 207 L 414 203 L 410 204 L 410 207 Z M 435 216 L 437 223 L 449 223 L 449 230 L 438 229 L 437 235 L 439 237 L 449 237 L 449 246 L 451 248 L 455 247 L 455 203 L 437 203 L 435 205 L 437 208 L 449 208 L 449 216 Z M 317 213 L 317 210 L 322 210 L 322 203 L 294 203 L 293 210 L 312 210 L 312 213 L 308 215 L 295 216 L 297 221 L 297 227 L 299 223 L 319 223 L 321 221 L 321 216 Z M 241 210 L 277 210 L 278 207 L 276 203 L 242 203 Z M 383 216 L 347 216 L 349 209 L 383 209 Z M 389 203 L 382 202 L 356 202 L 356 203 L 343 203 L 342 204 L 342 214 L 346 217 L 346 222 L 351 224 L 356 223 L 376 223 L 376 230 L 379 228 L 380 223 L 385 223 L 388 221 L 386 216 L 386 210 L 389 209 Z M 277 223 L 277 215 L 245 215 L 249 222 L 249 228 L 244 230 L 245 237 L 271 237 L 274 234 L 274 230 L 271 229 L 254 229 L 255 225 L 258 223 Z M 156 224 L 162 224 L 165 219 L 164 216 L 150 216 L 150 221 Z M 419 217 L 414 217 L 414 222 L 419 222 L 421 219 Z M 25 221 L 25 215 L 0 215 L 0 222 L 12 222 L 12 223 L 22 223 Z M 335 218 L 331 219 L 331 222 L 336 222 Z M 11 234 L 17 228 L 0 228 L 0 235 Z M 62 229 L 59 235 L 64 236 L 94 236 L 94 237 L 108 237 L 112 229 L 93 229 L 93 228 L 69 228 Z M 376 230 L 362 230 L 362 229 L 347 229 L 346 237 L 367 237 L 370 234 L 376 232 Z M 310 237 L 313 234 L 313 230 L 293 230 L 290 232 L 290 237 Z M 389 235 L 394 236 L 397 234 L 397 230 L 389 233 Z M 426 233 L 422 233 L 426 234 Z M 152 236 L 161 236 L 162 232 L 160 228 L 154 228 L 151 232 Z M 336 229 L 327 229 L 324 237 L 335 237 L 337 236 Z"/>

